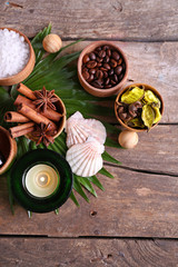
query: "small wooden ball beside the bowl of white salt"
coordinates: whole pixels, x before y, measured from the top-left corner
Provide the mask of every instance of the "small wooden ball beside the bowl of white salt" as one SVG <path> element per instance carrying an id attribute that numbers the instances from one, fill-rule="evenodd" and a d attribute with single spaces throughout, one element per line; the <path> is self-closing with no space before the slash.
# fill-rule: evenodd
<path id="1" fill-rule="evenodd" d="M 47 52 L 55 53 L 62 47 L 62 41 L 59 36 L 50 33 L 43 38 L 42 46 Z"/>

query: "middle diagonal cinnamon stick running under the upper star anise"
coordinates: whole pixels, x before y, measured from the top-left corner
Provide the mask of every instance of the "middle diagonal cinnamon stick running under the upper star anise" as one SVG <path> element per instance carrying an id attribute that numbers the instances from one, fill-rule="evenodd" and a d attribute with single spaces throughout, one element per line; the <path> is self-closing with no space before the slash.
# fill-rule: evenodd
<path id="1" fill-rule="evenodd" d="M 36 109 L 36 105 L 30 99 L 19 95 L 17 97 L 16 101 L 14 101 L 14 106 L 18 107 L 20 103 L 24 103 L 28 107 L 30 107 L 32 109 Z M 55 111 L 51 108 L 47 108 L 46 111 L 40 111 L 40 113 L 42 116 L 47 117 L 48 119 L 50 119 L 52 121 L 56 121 L 56 122 L 58 122 L 60 120 L 60 118 L 65 116 L 65 115 L 61 115 L 61 113 Z"/>

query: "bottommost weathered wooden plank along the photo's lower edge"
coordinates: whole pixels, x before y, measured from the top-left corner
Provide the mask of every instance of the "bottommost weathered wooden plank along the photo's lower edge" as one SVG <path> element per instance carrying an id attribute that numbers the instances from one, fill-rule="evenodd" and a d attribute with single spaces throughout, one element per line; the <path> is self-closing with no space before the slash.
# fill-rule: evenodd
<path id="1" fill-rule="evenodd" d="M 1 238 L 1 266 L 176 267 L 178 241 Z"/>

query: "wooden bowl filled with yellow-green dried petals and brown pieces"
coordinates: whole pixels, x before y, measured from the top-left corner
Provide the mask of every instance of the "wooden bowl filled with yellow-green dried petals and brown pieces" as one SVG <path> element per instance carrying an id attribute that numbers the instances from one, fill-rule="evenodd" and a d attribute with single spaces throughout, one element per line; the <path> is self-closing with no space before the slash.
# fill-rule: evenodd
<path id="1" fill-rule="evenodd" d="M 115 113 L 119 123 L 128 130 L 149 131 L 162 117 L 164 99 L 154 87 L 132 83 L 119 91 Z"/>

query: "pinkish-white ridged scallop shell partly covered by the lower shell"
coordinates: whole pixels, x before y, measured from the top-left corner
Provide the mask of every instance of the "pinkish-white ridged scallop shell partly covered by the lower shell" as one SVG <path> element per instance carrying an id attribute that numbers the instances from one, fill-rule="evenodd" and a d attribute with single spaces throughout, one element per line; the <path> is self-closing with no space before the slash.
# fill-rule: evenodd
<path id="1" fill-rule="evenodd" d="M 79 111 L 67 120 L 66 132 L 69 148 L 85 142 L 89 136 L 96 138 L 101 145 L 107 138 L 106 128 L 99 120 L 85 119 Z"/>

